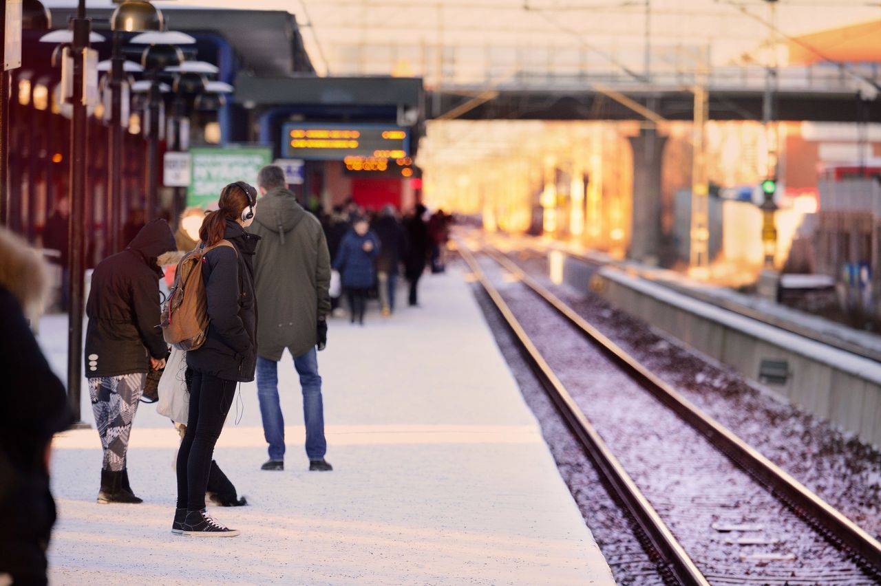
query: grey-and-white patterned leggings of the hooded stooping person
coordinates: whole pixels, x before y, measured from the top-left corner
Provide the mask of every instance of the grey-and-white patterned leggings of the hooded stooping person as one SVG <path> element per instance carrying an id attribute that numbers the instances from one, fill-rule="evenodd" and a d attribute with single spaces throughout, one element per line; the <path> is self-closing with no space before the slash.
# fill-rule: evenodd
<path id="1" fill-rule="evenodd" d="M 144 372 L 134 372 L 119 377 L 89 379 L 95 427 L 104 448 L 104 462 L 101 465 L 104 470 L 119 472 L 125 468 L 131 423 L 135 421 L 146 376 Z"/>

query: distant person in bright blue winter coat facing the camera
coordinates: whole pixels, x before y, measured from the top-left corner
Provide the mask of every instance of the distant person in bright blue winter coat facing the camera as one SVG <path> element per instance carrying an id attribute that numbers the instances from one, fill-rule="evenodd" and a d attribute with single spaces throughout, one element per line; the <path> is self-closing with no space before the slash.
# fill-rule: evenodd
<path id="1" fill-rule="evenodd" d="M 345 295 L 349 299 L 349 310 L 352 311 L 352 323 L 364 325 L 364 310 L 367 295 L 376 282 L 374 259 L 380 253 L 380 241 L 366 218 L 358 217 L 352 222 L 352 230 L 343 238 L 339 245 L 337 258 L 333 267 L 339 271 Z"/>

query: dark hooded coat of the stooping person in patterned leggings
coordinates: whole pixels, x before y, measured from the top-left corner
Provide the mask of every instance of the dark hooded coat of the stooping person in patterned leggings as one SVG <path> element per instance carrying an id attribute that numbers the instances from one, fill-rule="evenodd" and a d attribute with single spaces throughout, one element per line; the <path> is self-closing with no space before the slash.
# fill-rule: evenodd
<path id="1" fill-rule="evenodd" d="M 150 356 L 165 358 L 159 329 L 160 254 L 177 250 L 165 220 L 153 220 L 131 244 L 101 260 L 92 274 L 85 304 L 85 376 L 117 377 L 147 372 Z"/>

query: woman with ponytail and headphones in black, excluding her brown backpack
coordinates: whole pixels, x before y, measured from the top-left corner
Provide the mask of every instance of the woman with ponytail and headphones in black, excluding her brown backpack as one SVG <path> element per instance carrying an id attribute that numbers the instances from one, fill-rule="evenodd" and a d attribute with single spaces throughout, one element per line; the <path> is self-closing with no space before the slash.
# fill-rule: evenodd
<path id="1" fill-rule="evenodd" d="M 177 509 L 172 531 L 193 536 L 234 537 L 205 510 L 211 456 L 235 387 L 254 380 L 257 311 L 252 258 L 259 237 L 244 230 L 254 218 L 257 190 L 244 181 L 223 188 L 218 209 L 199 230 L 207 251 L 202 278 L 209 326 L 202 346 L 189 350 L 193 371 L 189 421 L 177 454 Z"/>

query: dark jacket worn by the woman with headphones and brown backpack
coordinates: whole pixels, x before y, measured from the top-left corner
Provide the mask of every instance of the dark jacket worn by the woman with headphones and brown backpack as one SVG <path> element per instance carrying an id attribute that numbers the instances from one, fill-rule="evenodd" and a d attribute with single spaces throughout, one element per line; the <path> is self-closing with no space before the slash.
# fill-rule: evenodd
<path id="1" fill-rule="evenodd" d="M 257 365 L 253 260 L 260 237 L 226 220 L 224 238 L 235 250 L 218 246 L 204 256 L 208 335 L 201 348 L 187 353 L 187 364 L 207 375 L 248 383 L 254 380 Z"/>

